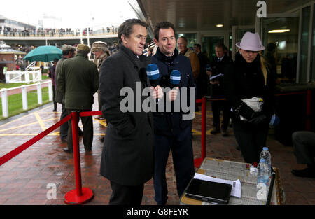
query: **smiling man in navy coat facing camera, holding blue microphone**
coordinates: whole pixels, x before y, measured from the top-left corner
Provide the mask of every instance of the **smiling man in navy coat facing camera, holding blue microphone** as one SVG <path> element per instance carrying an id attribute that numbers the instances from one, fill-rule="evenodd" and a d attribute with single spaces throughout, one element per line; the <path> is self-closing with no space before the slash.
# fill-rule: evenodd
<path id="1" fill-rule="evenodd" d="M 183 90 L 190 90 L 194 87 L 195 82 L 193 70 L 188 57 L 179 55 L 176 50 L 176 37 L 174 25 L 169 22 L 161 22 L 155 26 L 155 43 L 158 45 L 156 54 L 152 57 L 152 63 L 158 65 L 160 78 L 158 85 L 163 88 L 172 87 L 170 75 L 173 70 L 178 70 L 181 73 L 179 87 L 173 89 L 166 94 L 169 100 L 174 102 L 177 94 L 181 94 L 183 101 Z M 185 88 L 185 89 L 182 89 Z M 186 103 L 190 103 L 190 95 L 187 95 Z M 193 111 L 195 111 L 195 97 L 193 97 Z M 159 101 L 161 104 L 161 101 Z M 175 103 L 174 103 L 175 104 Z M 191 105 L 190 105 L 191 107 Z M 192 113 L 192 112 L 190 112 Z M 195 112 L 193 112 L 195 113 Z M 176 186 L 179 196 L 188 185 L 191 178 L 195 174 L 193 160 L 193 143 L 192 143 L 192 119 L 186 119 L 183 111 L 172 112 L 156 112 L 153 113 L 154 118 L 154 134 L 155 134 L 155 173 L 154 173 L 154 190 L 155 201 L 164 205 L 167 202 L 167 181 L 165 170 L 169 151 L 172 148 L 174 169 L 176 173 Z"/>

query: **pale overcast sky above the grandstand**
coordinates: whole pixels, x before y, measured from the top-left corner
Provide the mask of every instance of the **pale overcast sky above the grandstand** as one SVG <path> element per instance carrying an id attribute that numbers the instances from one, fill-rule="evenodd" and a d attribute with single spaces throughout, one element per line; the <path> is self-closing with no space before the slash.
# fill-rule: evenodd
<path id="1" fill-rule="evenodd" d="M 43 20 L 44 27 L 73 29 L 101 29 L 137 17 L 127 0 L 1 0 L 0 15 L 32 25 Z"/>

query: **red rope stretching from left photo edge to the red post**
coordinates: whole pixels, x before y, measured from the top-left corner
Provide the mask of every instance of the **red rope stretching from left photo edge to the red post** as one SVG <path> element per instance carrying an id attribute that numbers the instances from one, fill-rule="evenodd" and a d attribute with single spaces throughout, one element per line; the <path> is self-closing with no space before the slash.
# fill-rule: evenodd
<path id="1" fill-rule="evenodd" d="M 43 131 L 40 134 L 36 135 L 33 139 L 30 139 L 29 141 L 23 143 L 18 148 L 15 148 L 14 150 L 12 150 L 9 153 L 7 153 L 6 155 L 3 155 L 2 157 L 0 157 L 0 166 L 2 164 L 4 164 L 4 163 L 8 162 L 8 160 L 11 160 L 16 155 L 22 153 L 22 151 L 26 150 L 27 148 L 32 146 L 37 141 L 43 139 L 43 137 L 45 137 L 50 132 L 52 132 L 53 130 L 57 129 L 57 127 L 59 127 L 60 125 L 64 124 L 64 122 L 67 122 L 70 119 L 71 119 L 71 115 L 67 115 L 65 118 L 63 118 L 62 120 L 57 122 L 55 125 L 52 125 L 48 129 L 45 129 L 45 131 Z"/>

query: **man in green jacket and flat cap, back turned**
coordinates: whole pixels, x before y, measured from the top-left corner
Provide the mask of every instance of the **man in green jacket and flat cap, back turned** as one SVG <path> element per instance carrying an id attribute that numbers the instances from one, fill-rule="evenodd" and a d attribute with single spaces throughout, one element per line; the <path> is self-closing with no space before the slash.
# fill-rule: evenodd
<path id="1" fill-rule="evenodd" d="M 92 111 L 94 93 L 99 89 L 99 73 L 97 66 L 87 59 L 90 47 L 79 44 L 77 54 L 72 59 L 66 59 L 57 78 L 57 87 L 60 94 L 64 95 L 64 104 L 68 113 L 71 111 Z M 81 117 L 83 124 L 83 144 L 85 151 L 92 150 L 93 122 L 92 117 Z M 72 153 L 72 128 L 71 120 L 68 122 L 68 148 L 64 151 Z"/>

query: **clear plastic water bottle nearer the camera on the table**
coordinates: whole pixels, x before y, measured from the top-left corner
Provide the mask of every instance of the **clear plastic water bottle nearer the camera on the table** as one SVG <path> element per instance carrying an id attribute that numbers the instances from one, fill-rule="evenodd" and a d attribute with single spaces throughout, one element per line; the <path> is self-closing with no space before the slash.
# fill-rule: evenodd
<path id="1" fill-rule="evenodd" d="M 257 199 L 262 201 L 262 204 L 265 204 L 268 196 L 268 188 L 269 188 L 269 169 L 266 164 L 265 159 L 260 159 L 260 163 L 257 166 L 258 174 L 257 174 Z"/>

